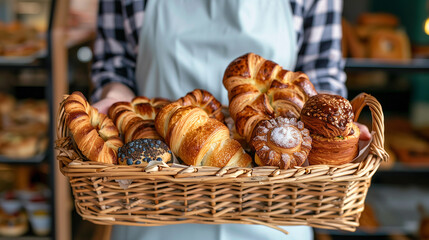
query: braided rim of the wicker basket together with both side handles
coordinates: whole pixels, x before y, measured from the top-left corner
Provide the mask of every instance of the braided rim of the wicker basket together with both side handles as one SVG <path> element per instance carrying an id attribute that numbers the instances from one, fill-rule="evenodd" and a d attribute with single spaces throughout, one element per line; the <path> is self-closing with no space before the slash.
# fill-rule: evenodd
<path id="1" fill-rule="evenodd" d="M 64 99 L 68 95 L 64 95 Z M 60 162 L 60 171 L 65 176 L 100 176 L 116 177 L 122 179 L 133 178 L 172 178 L 172 181 L 198 181 L 212 182 L 219 179 L 230 179 L 234 182 L 245 181 L 346 181 L 370 178 L 378 169 L 382 161 L 387 161 L 388 155 L 384 150 L 384 117 L 380 103 L 371 95 L 359 94 L 351 101 L 355 112 L 355 121 L 364 106 L 368 106 L 372 113 L 372 131 L 375 132 L 369 146 L 369 153 L 359 163 L 351 162 L 341 165 L 309 165 L 291 169 L 280 169 L 274 166 L 255 167 L 210 167 L 186 166 L 179 164 L 154 163 L 148 166 L 114 165 L 85 161 L 74 150 L 71 137 L 65 121 L 65 112 L 60 104 L 57 140 L 55 148 L 59 150 L 57 160 Z M 125 177 L 125 178 L 124 178 Z M 174 179 L 174 180 L 173 180 Z M 280 179 L 280 180 L 279 180 Z"/>

